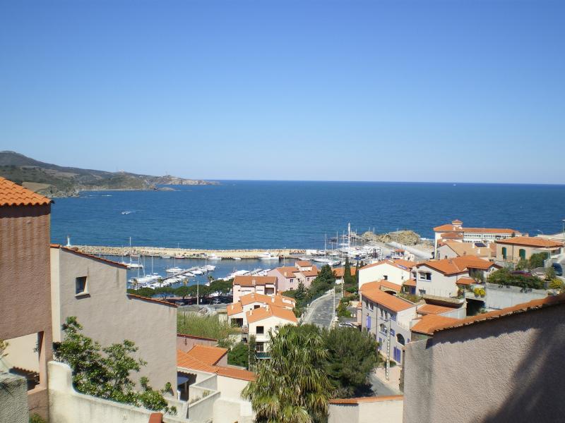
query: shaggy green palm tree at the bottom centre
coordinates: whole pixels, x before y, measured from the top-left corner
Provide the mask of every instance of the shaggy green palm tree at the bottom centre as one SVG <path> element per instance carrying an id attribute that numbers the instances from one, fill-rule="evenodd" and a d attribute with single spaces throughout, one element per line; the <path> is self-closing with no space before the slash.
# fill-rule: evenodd
<path id="1" fill-rule="evenodd" d="M 256 412 L 255 421 L 323 422 L 333 388 L 320 334 L 287 325 L 278 334 L 269 331 L 269 336 L 270 359 L 261 360 L 256 381 L 243 391 Z"/>

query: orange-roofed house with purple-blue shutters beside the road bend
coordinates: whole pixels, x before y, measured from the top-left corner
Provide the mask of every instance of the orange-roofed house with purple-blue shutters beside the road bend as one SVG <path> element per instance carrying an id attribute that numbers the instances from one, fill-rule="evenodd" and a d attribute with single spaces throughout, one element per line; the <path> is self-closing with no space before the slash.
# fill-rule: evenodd
<path id="1" fill-rule="evenodd" d="M 379 351 L 383 355 L 390 354 L 391 360 L 401 363 L 403 347 L 411 338 L 410 324 L 417 317 L 417 305 L 381 288 L 379 282 L 362 286 L 361 328 L 379 341 Z"/>

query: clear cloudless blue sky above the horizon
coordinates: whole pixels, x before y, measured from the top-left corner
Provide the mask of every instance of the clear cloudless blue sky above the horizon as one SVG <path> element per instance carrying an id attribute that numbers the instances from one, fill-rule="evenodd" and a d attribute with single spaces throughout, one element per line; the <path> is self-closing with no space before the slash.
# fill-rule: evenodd
<path id="1" fill-rule="evenodd" d="M 0 149 L 187 178 L 565 183 L 565 1 L 4 0 Z"/>

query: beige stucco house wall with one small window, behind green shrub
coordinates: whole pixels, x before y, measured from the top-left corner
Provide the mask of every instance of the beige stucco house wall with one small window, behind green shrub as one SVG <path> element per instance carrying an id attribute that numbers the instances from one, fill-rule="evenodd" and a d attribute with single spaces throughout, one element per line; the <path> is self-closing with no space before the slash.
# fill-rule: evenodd
<path id="1" fill-rule="evenodd" d="M 102 345 L 125 339 L 138 347 L 147 364 L 134 381 L 147 376 L 155 388 L 177 379 L 177 306 L 126 293 L 126 266 L 61 245 L 51 245 L 53 340 L 62 341 L 61 325 L 74 316 L 85 336 Z M 158 333 L 158 341 L 148 333 Z"/>

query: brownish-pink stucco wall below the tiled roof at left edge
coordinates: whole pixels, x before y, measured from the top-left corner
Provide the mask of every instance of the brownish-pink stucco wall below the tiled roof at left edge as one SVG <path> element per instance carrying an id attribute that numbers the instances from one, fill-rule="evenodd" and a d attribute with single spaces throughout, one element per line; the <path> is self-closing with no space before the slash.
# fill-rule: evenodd
<path id="1" fill-rule="evenodd" d="M 47 361 L 53 355 L 50 212 L 50 205 L 0 207 L 0 339 L 38 338 L 40 384 L 28 392 L 28 401 L 30 411 L 42 417 L 48 412 Z"/>

